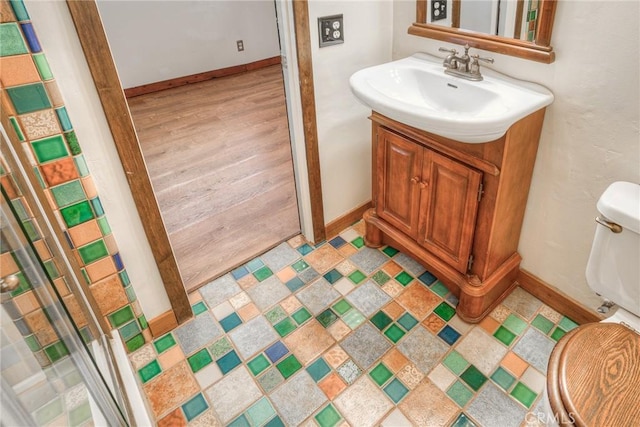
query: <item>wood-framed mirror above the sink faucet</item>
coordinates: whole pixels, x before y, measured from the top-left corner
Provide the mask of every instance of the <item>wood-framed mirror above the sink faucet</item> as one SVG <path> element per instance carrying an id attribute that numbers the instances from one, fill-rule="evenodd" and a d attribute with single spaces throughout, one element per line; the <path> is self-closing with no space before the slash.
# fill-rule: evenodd
<path id="1" fill-rule="evenodd" d="M 417 0 L 409 34 L 551 63 L 556 0 Z"/>

